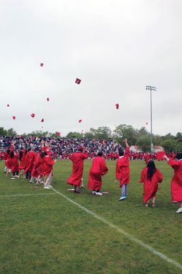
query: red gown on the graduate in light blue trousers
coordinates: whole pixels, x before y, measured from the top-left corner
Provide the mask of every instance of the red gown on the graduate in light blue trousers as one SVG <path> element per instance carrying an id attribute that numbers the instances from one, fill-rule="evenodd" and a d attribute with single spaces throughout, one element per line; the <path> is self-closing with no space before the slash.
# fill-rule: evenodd
<path id="1" fill-rule="evenodd" d="M 127 147 L 125 155 L 116 162 L 116 179 L 120 180 L 120 187 L 122 184 L 129 184 L 129 172 L 129 147 Z"/>

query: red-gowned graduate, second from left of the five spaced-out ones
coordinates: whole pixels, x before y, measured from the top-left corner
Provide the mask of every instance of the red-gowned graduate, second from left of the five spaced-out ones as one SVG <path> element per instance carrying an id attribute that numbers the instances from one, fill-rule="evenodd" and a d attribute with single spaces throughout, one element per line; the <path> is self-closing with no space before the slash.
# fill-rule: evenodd
<path id="1" fill-rule="evenodd" d="M 97 157 L 92 161 L 92 166 L 89 172 L 88 189 L 92 190 L 93 195 L 102 195 L 100 192 L 102 186 L 102 177 L 107 174 L 108 168 L 105 160 L 102 158 L 103 153 L 99 152 Z"/>

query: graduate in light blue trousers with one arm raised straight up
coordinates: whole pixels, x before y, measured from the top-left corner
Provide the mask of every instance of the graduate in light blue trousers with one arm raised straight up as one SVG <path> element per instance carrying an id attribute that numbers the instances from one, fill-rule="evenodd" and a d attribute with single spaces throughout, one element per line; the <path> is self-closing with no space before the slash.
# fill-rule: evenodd
<path id="1" fill-rule="evenodd" d="M 129 145 L 125 139 L 126 151 L 119 149 L 119 158 L 116 162 L 116 179 L 120 181 L 121 197 L 119 201 L 127 198 L 127 184 L 129 184 Z"/>

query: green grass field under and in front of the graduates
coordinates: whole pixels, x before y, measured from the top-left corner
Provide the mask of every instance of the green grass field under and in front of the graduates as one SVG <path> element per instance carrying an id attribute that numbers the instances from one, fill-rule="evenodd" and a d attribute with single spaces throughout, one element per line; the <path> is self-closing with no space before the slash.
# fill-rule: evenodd
<path id="1" fill-rule="evenodd" d="M 58 160 L 54 166 L 52 186 L 57 192 L 45 190 L 42 185 L 34 188 L 25 179 L 5 177 L 1 162 L 0 273 L 182 273 L 180 266 L 129 238 L 133 236 L 181 264 L 182 214 L 175 213 L 178 207 L 171 203 L 173 171 L 166 162 L 156 164 L 164 182 L 157 193 L 157 207 L 147 209 L 142 200 L 143 186 L 138 183 L 143 161 L 131 162 L 126 201 L 118 201 L 115 161 L 107 161 L 109 173 L 103 177 L 102 191 L 109 191 L 109 195 L 101 197 L 87 190 L 90 160 L 84 164 L 80 195 L 66 190 L 70 188 L 66 180 L 72 170 L 68 160 Z"/>

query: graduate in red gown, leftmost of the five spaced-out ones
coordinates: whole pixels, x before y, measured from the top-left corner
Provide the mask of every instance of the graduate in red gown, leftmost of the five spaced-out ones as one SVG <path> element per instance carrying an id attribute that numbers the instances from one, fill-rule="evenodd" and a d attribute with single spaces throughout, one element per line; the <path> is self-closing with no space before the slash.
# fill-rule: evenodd
<path id="1" fill-rule="evenodd" d="M 81 178 L 83 174 L 83 161 L 88 158 L 88 153 L 83 152 L 83 147 L 79 147 L 77 152 L 70 155 L 70 160 L 73 162 L 72 174 L 68 178 L 68 184 L 75 186 L 75 192 L 79 193 Z"/>

